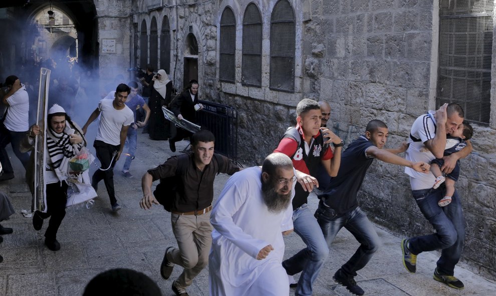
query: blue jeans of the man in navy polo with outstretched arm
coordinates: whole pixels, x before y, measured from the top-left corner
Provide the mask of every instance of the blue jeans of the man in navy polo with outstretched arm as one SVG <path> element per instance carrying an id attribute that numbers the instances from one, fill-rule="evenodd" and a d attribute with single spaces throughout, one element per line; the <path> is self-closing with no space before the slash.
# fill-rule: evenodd
<path id="1" fill-rule="evenodd" d="M 357 276 L 357 271 L 367 265 L 372 255 L 382 244 L 374 225 L 369 221 L 365 212 L 360 207 L 356 207 L 344 215 L 337 215 L 334 210 L 320 202 L 315 216 L 329 246 L 343 227 L 358 240 L 360 246 L 353 256 L 341 266 L 341 270 L 346 275 Z"/>

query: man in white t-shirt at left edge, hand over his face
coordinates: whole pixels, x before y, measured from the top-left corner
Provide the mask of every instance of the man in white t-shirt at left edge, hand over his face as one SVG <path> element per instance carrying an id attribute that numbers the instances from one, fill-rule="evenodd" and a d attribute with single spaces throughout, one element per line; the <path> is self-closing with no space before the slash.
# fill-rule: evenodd
<path id="1" fill-rule="evenodd" d="M 3 166 L 3 174 L 0 181 L 14 178 L 14 170 L 5 150 L 7 144 L 11 143 L 12 150 L 22 162 L 25 169 L 29 165 L 29 153 L 21 153 L 21 140 L 26 136 L 29 129 L 29 96 L 26 87 L 15 75 L 7 77 L 5 85 L 7 94 L 2 103 L 7 107 L 4 123 L 0 126 L 0 163 Z"/>

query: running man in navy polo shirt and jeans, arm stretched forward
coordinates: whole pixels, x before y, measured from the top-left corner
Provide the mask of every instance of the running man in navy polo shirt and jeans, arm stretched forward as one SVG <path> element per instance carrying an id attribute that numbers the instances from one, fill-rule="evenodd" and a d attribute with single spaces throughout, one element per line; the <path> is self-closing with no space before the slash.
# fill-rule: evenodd
<path id="1" fill-rule="evenodd" d="M 398 149 L 382 149 L 387 137 L 388 128 L 384 122 L 372 120 L 367 124 L 365 135 L 350 143 L 343 152 L 338 175 L 331 178 L 327 190 L 319 195 L 319 207 L 315 212 L 329 246 L 342 227 L 360 242 L 355 254 L 333 276 L 334 280 L 356 295 L 363 295 L 364 291 L 353 278 L 381 244 L 374 225 L 358 205 L 357 194 L 367 169 L 374 158 L 424 173 L 429 172 L 430 167 L 425 162 L 413 163 L 395 155 L 404 152 L 406 144 Z"/>

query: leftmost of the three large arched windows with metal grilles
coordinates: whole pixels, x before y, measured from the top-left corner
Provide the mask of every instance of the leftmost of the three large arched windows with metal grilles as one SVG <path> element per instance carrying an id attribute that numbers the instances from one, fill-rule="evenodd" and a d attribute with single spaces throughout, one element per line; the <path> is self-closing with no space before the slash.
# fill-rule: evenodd
<path id="1" fill-rule="evenodd" d="M 236 19 L 229 7 L 220 17 L 219 80 L 234 83 L 236 76 Z"/>

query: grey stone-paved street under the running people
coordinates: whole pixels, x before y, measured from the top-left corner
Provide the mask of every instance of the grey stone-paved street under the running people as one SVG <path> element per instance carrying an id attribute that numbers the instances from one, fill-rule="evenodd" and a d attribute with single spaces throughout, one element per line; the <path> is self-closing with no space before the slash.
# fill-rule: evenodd
<path id="1" fill-rule="evenodd" d="M 91 141 L 91 143 L 93 143 Z M 176 144 L 177 151 L 185 142 Z M 9 146 L 10 147 L 10 146 Z M 145 211 L 139 208 L 141 176 L 148 168 L 162 163 L 172 155 L 166 141 L 152 141 L 138 133 L 138 150 L 131 166 L 134 178 L 121 175 L 123 160 L 116 165 L 115 186 L 119 204 L 123 209 L 113 214 L 103 181 L 99 186 L 99 198 L 90 209 L 69 208 L 58 233 L 61 250 L 50 251 L 44 245 L 44 231 L 35 231 L 31 218 L 21 214 L 30 211 L 31 194 L 25 185 L 24 169 L 13 156 L 16 178 L 0 183 L 0 190 L 7 192 L 16 214 L 2 224 L 13 227 L 14 233 L 4 235 L 0 244 L 0 296 L 24 295 L 81 295 L 86 283 L 101 271 L 114 267 L 127 267 L 149 275 L 158 283 L 164 295 L 173 295 L 172 279 L 181 268 L 175 267 L 171 279 L 163 280 L 158 272 L 163 252 L 168 245 L 175 245 L 170 228 L 170 214 L 161 206 Z M 92 167 L 94 170 L 96 167 Z M 216 178 L 214 196 L 218 196 L 227 175 Z M 309 197 L 315 209 L 315 195 Z M 455 290 L 432 279 L 437 252 L 422 253 L 418 257 L 417 272 L 408 273 L 401 259 L 401 237 L 378 227 L 383 246 L 372 261 L 356 277 L 366 295 L 490 295 L 496 284 L 469 271 L 459 264 L 455 275 L 465 283 L 464 290 Z M 315 295 L 350 295 L 332 280 L 334 272 L 355 251 L 358 243 L 346 230 L 336 237 L 330 257 L 315 284 Z M 296 234 L 286 238 L 286 256 L 296 253 L 303 242 Z M 203 270 L 188 288 L 190 295 L 208 295 L 208 272 Z M 292 290 L 294 293 L 294 290 Z M 258 296 L 258 295 L 257 295 Z"/>

